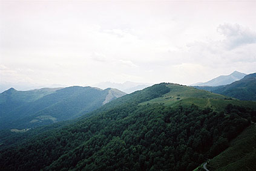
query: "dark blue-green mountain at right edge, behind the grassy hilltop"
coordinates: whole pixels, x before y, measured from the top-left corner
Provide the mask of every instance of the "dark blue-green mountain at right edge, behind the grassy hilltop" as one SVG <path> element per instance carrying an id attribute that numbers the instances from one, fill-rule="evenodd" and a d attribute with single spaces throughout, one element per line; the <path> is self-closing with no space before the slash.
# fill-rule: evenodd
<path id="1" fill-rule="evenodd" d="M 195 86 L 206 91 L 234 97 L 239 100 L 256 101 L 256 73 L 248 74 L 243 79 L 225 86 Z"/>

